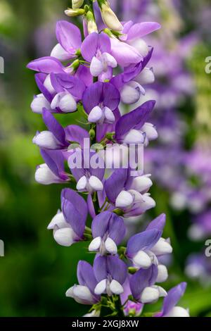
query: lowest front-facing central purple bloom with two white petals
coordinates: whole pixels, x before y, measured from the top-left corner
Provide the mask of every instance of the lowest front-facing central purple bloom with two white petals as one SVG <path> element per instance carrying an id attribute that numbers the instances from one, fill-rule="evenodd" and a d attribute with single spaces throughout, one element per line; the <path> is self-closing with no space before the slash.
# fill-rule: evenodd
<path id="1" fill-rule="evenodd" d="M 94 275 L 97 280 L 95 294 L 112 296 L 124 292 L 122 285 L 127 277 L 127 266 L 118 256 L 97 256 Z"/>

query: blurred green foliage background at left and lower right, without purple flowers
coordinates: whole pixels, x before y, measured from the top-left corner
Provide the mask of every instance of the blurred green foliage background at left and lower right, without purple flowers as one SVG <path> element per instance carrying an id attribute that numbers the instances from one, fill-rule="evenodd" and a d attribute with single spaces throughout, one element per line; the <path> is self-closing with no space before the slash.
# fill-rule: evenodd
<path id="1" fill-rule="evenodd" d="M 49 55 L 46 50 L 56 43 L 56 20 L 64 18 L 68 5 L 70 1 L 63 0 L 0 3 L 0 56 L 5 59 L 5 73 L 0 75 L 0 239 L 5 243 L 5 256 L 0 258 L 0 316 L 82 316 L 89 310 L 66 298 L 65 291 L 77 282 L 77 261 L 91 262 L 94 256 L 87 254 L 86 243 L 59 246 L 46 230 L 60 208 L 63 186 L 41 186 L 34 181 L 34 169 L 42 160 L 32 138 L 44 124 L 30 110 L 38 90 L 33 73 L 25 68 L 32 59 Z M 38 29 L 41 32 L 36 37 Z M 68 125 L 73 117 L 64 115 L 61 120 Z M 175 247 L 168 289 L 186 280 L 186 257 L 203 243 L 188 242 L 188 215 L 175 214 L 167 192 L 154 186 L 157 207 L 148 218 L 167 213 L 165 236 L 172 237 Z M 210 295 L 210 288 L 188 280 L 183 304 L 193 316 L 210 315 Z M 159 306 L 155 305 L 155 311 Z"/>

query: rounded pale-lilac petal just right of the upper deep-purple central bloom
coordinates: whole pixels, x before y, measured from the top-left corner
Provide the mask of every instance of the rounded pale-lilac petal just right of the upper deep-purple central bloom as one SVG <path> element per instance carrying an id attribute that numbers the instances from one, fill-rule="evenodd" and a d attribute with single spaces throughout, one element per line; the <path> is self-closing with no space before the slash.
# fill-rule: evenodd
<path id="1" fill-rule="evenodd" d="M 143 92 L 143 89 L 136 82 L 124 84 L 120 92 L 122 102 L 124 104 L 135 104 L 140 99 L 141 91 Z"/>

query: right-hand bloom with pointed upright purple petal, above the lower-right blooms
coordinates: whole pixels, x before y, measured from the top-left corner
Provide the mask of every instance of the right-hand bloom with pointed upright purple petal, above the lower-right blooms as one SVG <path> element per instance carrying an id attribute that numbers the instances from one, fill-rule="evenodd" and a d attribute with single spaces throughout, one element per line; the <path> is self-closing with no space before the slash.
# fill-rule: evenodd
<path id="1" fill-rule="evenodd" d="M 153 263 L 158 265 L 157 256 L 172 253 L 170 243 L 161 238 L 165 226 L 165 214 L 155 218 L 145 231 L 132 236 L 127 243 L 127 257 L 132 259 L 134 266 L 147 269 Z M 159 282 L 165 281 L 166 270 L 160 267 Z"/>

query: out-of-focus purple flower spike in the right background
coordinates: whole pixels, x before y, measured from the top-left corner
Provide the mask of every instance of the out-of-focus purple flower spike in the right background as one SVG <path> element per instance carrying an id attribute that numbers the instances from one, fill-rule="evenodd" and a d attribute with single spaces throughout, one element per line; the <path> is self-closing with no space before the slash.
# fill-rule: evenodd
<path id="1" fill-rule="evenodd" d="M 183 29 L 183 1 L 160 0 L 160 6 L 150 0 L 142 1 L 141 6 L 138 3 L 138 0 L 123 1 L 123 6 L 119 9 L 124 20 L 133 13 L 136 20 L 143 20 L 151 15 L 153 20 L 161 20 L 162 17 L 162 23 L 167 24 L 167 30 L 162 35 L 148 39 L 156 49 L 151 59 L 151 65 L 155 67 L 156 82 L 147 89 L 145 99 L 151 96 L 156 99 L 159 111 L 154 123 L 160 135 L 155 148 L 147 149 L 145 161 L 157 185 L 170 193 L 171 207 L 177 211 L 188 211 L 192 223 L 188 229 L 188 237 L 194 241 L 205 241 L 211 233 L 209 146 L 206 143 L 202 147 L 196 141 L 191 149 L 186 150 L 184 137 L 187 127 L 178 108 L 190 96 L 194 98 L 197 95 L 193 77 L 186 69 L 186 60 L 193 54 L 194 46 L 207 35 L 207 25 L 204 23 L 209 18 L 210 11 L 202 6 L 200 11 L 193 14 L 193 5 L 189 20 L 196 25 L 195 30 L 178 39 L 178 33 Z M 113 1 L 113 5 L 116 4 Z M 166 11 L 166 15 L 163 11 Z M 201 77 L 198 80 L 201 81 Z M 206 108 L 205 101 L 200 99 L 198 104 Z M 160 176 L 160 173 L 165 173 L 165 176 Z M 188 257 L 185 271 L 188 277 L 199 278 L 203 285 L 210 283 L 210 259 L 206 258 L 204 251 Z"/>

